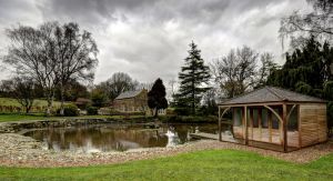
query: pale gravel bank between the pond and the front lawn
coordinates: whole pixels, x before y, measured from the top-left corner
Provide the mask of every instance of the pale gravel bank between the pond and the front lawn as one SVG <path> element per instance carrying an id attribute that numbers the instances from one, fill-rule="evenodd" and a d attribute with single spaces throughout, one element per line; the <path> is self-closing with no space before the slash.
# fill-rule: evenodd
<path id="1" fill-rule="evenodd" d="M 179 153 L 214 149 L 253 151 L 265 157 L 274 157 L 296 163 L 310 162 L 319 159 L 322 155 L 333 153 L 333 142 L 309 147 L 290 153 L 281 153 L 213 140 L 200 140 L 173 148 L 138 149 L 125 152 L 54 152 L 43 149 L 44 145 L 32 138 L 14 133 L 0 134 L 0 165 L 32 168 L 112 164 L 132 160 L 170 157 Z"/>

